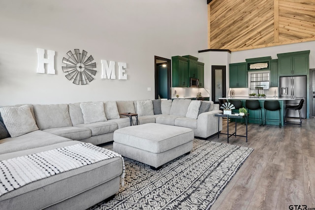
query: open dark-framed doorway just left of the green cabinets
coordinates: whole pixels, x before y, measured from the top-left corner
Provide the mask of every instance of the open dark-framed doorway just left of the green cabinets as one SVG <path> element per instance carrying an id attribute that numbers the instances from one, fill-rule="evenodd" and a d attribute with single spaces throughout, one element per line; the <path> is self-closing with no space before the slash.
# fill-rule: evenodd
<path id="1" fill-rule="evenodd" d="M 171 99 L 171 60 L 155 56 L 155 98 Z"/>

